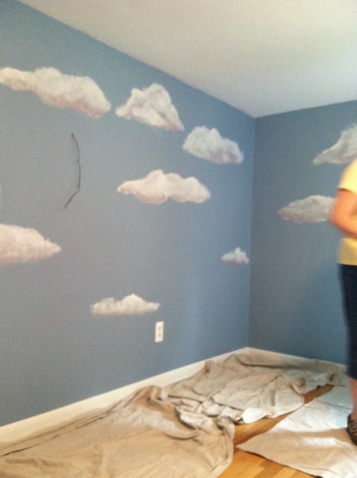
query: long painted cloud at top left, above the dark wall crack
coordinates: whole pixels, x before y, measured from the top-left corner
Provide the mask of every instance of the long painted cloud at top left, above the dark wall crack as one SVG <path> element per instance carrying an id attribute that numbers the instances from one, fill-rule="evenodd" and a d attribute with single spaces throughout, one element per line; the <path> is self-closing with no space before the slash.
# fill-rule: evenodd
<path id="1" fill-rule="evenodd" d="M 95 118 L 111 108 L 91 78 L 65 75 L 56 68 L 40 68 L 34 72 L 2 68 L 0 83 L 14 90 L 31 91 L 58 108 L 72 108 Z"/>

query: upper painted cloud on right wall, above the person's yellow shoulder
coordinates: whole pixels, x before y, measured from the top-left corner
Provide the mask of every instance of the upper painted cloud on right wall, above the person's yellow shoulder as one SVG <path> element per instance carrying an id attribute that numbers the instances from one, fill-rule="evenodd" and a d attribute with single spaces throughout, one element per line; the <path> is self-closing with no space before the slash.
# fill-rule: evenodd
<path id="1" fill-rule="evenodd" d="M 341 132 L 340 139 L 331 148 L 325 149 L 313 160 L 321 163 L 348 164 L 357 158 L 357 126 Z"/>

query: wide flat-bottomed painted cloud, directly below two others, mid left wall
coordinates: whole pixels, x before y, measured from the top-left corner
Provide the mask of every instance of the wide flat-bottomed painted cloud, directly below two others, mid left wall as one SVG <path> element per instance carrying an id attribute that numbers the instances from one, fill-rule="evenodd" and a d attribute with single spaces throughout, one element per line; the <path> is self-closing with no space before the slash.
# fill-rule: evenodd
<path id="1" fill-rule="evenodd" d="M 123 182 L 118 192 L 133 194 L 140 201 L 154 204 L 168 198 L 178 202 L 204 202 L 211 196 L 208 189 L 195 178 L 183 179 L 179 174 L 164 174 L 161 169 L 151 171 L 144 179 Z"/>

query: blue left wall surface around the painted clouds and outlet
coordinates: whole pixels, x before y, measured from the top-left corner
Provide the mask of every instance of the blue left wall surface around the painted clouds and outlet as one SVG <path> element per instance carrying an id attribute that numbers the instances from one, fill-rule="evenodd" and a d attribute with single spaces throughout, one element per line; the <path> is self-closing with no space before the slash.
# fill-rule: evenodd
<path id="1" fill-rule="evenodd" d="M 62 246 L 50 259 L 0 270 L 0 425 L 246 346 L 254 120 L 13 0 L 0 0 L 0 68 L 54 66 L 93 78 L 112 110 L 94 119 L 0 85 L 0 222 Z M 185 132 L 115 115 L 131 88 L 162 84 Z M 244 152 L 216 165 L 182 150 L 196 126 Z M 81 151 L 81 190 L 76 151 Z M 153 169 L 195 176 L 211 198 L 150 205 L 117 193 Z M 141 317 L 98 318 L 90 305 L 135 293 L 160 302 Z M 154 343 L 155 322 L 164 340 Z"/>

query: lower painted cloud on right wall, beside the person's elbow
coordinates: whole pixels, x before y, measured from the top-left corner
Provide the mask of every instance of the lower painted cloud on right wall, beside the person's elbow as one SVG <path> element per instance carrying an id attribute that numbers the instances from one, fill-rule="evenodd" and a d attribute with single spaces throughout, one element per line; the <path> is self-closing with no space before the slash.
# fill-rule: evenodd
<path id="1" fill-rule="evenodd" d="M 309 196 L 308 198 L 291 202 L 288 206 L 280 209 L 278 214 L 283 219 L 296 224 L 313 224 L 326 221 L 334 201 L 334 198 L 326 198 L 325 196 Z"/>

